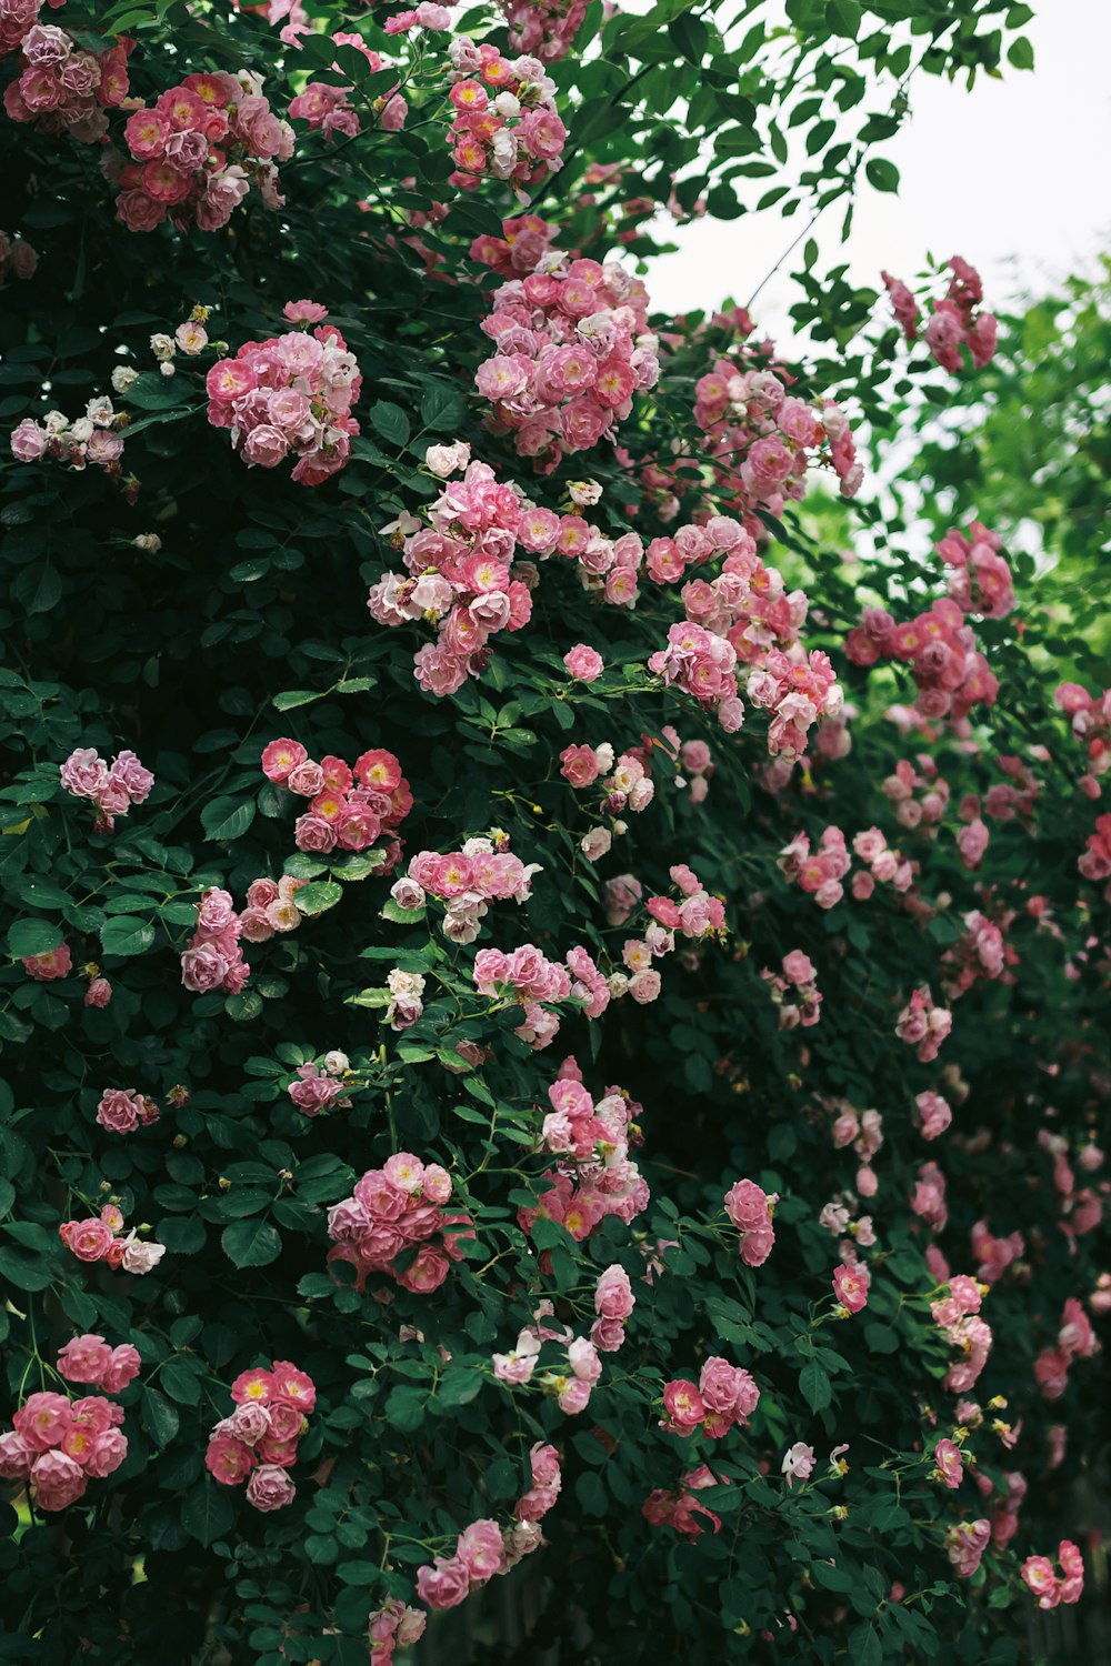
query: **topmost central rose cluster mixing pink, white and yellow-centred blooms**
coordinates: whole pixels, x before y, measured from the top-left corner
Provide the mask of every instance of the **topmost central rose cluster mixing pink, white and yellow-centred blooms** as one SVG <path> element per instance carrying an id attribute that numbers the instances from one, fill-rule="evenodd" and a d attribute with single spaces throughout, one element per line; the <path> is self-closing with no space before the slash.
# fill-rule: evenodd
<path id="1" fill-rule="evenodd" d="M 556 88 L 538 58 L 505 58 L 491 42 L 455 35 L 448 45 L 448 183 L 475 192 L 483 175 L 521 190 L 561 167 L 566 128 L 556 113 Z"/>

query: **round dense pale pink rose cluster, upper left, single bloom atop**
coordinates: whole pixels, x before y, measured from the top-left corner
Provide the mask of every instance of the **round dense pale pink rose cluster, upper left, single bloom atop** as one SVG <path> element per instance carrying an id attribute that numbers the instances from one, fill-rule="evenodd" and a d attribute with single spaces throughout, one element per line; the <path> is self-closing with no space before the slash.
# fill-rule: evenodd
<path id="1" fill-rule="evenodd" d="M 336 327 L 320 322 L 323 307 L 288 302 L 285 317 L 305 328 L 245 342 L 235 358 L 212 367 L 208 421 L 230 430 L 248 468 L 278 468 L 293 455 L 291 478 L 318 486 L 350 461 L 363 378 Z"/>

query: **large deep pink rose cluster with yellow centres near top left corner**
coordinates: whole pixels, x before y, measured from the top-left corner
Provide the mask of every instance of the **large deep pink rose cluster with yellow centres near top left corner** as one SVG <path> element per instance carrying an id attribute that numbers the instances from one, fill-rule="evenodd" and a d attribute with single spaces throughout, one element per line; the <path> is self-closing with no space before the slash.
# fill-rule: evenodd
<path id="1" fill-rule="evenodd" d="M 293 128 L 278 120 L 250 72 L 187 75 L 135 110 L 123 130 L 132 162 L 118 170 L 117 215 L 130 232 L 170 220 L 178 232 L 218 232 L 252 182 L 280 208 L 277 162 L 293 155 Z"/>

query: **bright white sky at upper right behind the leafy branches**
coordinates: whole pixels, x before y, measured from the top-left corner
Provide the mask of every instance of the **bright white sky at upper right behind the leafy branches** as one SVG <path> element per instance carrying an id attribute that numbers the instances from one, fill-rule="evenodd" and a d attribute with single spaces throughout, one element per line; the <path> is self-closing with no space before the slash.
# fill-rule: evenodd
<path id="1" fill-rule="evenodd" d="M 881 267 L 911 278 L 928 253 L 959 253 L 979 268 L 986 305 L 1006 308 L 1111 250 L 1111 0 L 1031 3 L 1033 72 L 1004 65 L 1003 80 L 976 77 L 971 93 L 963 78 L 911 82 L 909 120 L 874 152 L 899 168 L 899 193 L 861 188 L 841 253 L 854 282 L 878 288 Z M 834 263 L 841 213 L 834 203 L 815 230 L 820 270 Z M 655 260 L 646 280 L 653 307 L 743 303 L 803 223 L 803 210 L 780 220 L 773 208 L 675 228 L 678 253 Z M 776 275 L 758 325 L 786 333 L 795 298 Z"/>

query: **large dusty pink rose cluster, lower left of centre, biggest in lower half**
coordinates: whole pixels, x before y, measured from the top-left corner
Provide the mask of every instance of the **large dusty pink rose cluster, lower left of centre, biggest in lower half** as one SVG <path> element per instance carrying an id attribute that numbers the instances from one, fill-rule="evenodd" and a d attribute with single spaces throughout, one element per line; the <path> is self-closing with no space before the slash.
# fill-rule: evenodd
<path id="1" fill-rule="evenodd" d="M 473 1236 L 468 1215 L 445 1215 L 451 1176 L 438 1163 L 421 1163 L 408 1151 L 396 1151 L 383 1168 L 368 1170 L 350 1198 L 328 1210 L 328 1261 L 355 1268 L 355 1288 L 363 1289 L 370 1273 L 386 1273 L 416 1296 L 428 1296 L 448 1276 L 451 1261 L 461 1259 L 460 1236 Z M 438 1236 L 440 1243 L 431 1240 Z M 416 1251 L 405 1269 L 396 1259 Z"/>

